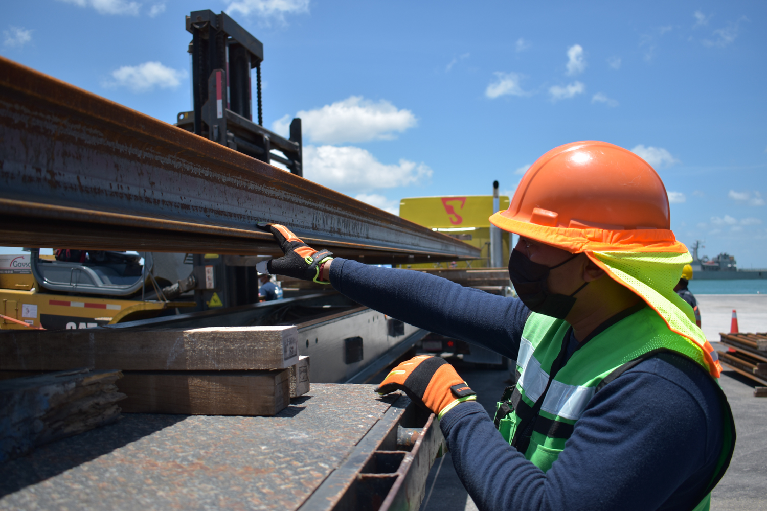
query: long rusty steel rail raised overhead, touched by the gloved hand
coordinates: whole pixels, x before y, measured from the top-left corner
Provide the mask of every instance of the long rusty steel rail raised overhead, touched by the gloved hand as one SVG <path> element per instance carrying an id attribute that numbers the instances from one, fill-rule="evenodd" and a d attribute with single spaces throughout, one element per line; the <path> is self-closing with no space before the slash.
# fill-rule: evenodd
<path id="1" fill-rule="evenodd" d="M 369 263 L 479 250 L 0 57 L 6 246 L 280 254 L 256 221 Z"/>

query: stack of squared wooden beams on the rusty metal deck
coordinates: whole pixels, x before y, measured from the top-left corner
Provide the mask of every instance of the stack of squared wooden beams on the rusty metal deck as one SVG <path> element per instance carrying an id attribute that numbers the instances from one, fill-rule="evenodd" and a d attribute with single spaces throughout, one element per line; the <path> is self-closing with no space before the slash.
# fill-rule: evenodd
<path id="1" fill-rule="evenodd" d="M 31 334 L 31 335 L 30 335 Z M 0 371 L 119 368 L 123 411 L 273 415 L 291 398 L 291 366 L 308 391 L 295 326 L 14 331 L 0 336 Z"/>

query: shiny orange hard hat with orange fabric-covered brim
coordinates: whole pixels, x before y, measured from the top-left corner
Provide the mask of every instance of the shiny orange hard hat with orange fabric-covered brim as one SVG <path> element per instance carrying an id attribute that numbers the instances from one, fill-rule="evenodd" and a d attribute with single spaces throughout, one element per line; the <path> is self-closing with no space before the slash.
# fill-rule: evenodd
<path id="1" fill-rule="evenodd" d="M 670 230 L 666 188 L 627 149 L 586 140 L 551 149 L 533 163 L 495 226 L 581 251 L 686 251 Z"/>

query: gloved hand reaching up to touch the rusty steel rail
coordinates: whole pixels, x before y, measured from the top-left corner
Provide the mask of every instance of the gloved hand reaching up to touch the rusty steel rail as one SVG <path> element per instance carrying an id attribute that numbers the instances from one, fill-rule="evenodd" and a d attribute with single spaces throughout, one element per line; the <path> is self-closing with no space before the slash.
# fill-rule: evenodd
<path id="1" fill-rule="evenodd" d="M 277 243 L 285 253 L 278 259 L 262 260 L 255 265 L 256 271 L 260 274 L 287 275 L 303 280 L 314 280 L 314 282 L 328 284 L 319 280 L 320 266 L 333 258 L 330 251 L 322 249 L 315 251 L 303 241 L 280 224 L 255 224 L 262 231 L 271 232 L 277 239 Z"/>

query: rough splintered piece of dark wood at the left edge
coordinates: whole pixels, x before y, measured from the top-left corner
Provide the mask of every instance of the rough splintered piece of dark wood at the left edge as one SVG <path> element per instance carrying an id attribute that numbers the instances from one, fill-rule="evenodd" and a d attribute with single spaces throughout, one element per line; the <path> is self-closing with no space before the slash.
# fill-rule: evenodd
<path id="1" fill-rule="evenodd" d="M 0 463 L 117 420 L 119 371 L 51 372 L 0 382 Z"/>

